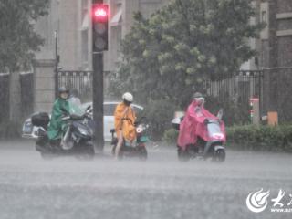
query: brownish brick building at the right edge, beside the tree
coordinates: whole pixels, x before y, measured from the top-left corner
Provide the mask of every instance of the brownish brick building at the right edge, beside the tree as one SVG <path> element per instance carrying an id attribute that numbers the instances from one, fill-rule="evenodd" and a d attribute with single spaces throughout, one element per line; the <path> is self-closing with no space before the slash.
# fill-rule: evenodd
<path id="1" fill-rule="evenodd" d="M 256 0 L 257 20 L 266 23 L 256 41 L 264 70 L 264 109 L 277 111 L 280 120 L 292 120 L 292 1 Z"/>

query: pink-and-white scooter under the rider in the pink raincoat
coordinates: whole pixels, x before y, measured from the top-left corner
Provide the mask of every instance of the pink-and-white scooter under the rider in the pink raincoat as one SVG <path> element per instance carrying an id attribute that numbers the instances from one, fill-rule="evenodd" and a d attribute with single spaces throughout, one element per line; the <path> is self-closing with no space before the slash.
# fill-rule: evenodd
<path id="1" fill-rule="evenodd" d="M 187 162 L 190 159 L 199 158 L 206 160 L 211 158 L 214 162 L 224 162 L 226 153 L 224 147 L 225 133 L 221 129 L 223 110 L 219 110 L 217 114 L 218 120 L 204 120 L 209 139 L 204 141 L 200 136 L 195 144 L 189 144 L 185 149 L 177 145 L 178 158 L 181 162 Z M 172 126 L 176 130 L 180 130 L 180 124 L 183 117 L 172 120 Z"/>

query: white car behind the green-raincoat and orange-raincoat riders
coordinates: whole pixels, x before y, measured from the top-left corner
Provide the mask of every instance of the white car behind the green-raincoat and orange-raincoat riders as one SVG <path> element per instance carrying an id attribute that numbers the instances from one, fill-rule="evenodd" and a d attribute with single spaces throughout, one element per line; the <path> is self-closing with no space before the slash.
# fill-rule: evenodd
<path id="1" fill-rule="evenodd" d="M 110 134 L 110 130 L 114 129 L 114 110 L 116 109 L 116 106 L 119 104 L 120 102 L 104 102 L 103 104 L 103 110 L 104 110 L 104 118 L 103 118 L 103 136 L 104 136 L 104 140 L 105 141 L 111 141 L 111 134 Z M 92 102 L 86 102 L 82 104 L 82 108 L 85 110 L 89 107 L 89 105 L 92 106 Z M 143 107 L 141 107 L 140 105 L 136 105 L 136 104 L 132 104 L 131 105 L 133 110 L 139 114 L 141 112 L 141 110 L 143 110 Z M 37 112 L 36 112 L 37 113 Z M 33 115 L 35 115 L 36 113 L 34 113 Z M 32 115 L 32 116 L 33 116 Z M 22 137 L 26 138 L 26 139 L 37 139 L 37 130 L 39 127 L 33 126 L 31 123 L 31 116 L 25 120 L 24 125 L 23 125 L 23 129 L 22 129 Z"/>

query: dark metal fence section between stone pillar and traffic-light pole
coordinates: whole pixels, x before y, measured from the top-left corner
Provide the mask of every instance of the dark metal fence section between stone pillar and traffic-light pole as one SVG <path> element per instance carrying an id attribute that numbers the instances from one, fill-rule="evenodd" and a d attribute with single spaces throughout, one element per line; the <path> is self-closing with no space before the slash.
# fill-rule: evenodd
<path id="1" fill-rule="evenodd" d="M 66 86 L 78 93 L 79 99 L 89 101 L 92 99 L 92 71 L 58 71 L 58 87 Z"/>

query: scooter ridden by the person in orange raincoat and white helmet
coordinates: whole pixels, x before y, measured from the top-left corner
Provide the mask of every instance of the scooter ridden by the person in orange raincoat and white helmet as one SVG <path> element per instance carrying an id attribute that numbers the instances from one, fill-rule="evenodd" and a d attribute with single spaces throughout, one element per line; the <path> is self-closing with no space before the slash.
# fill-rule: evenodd
<path id="1" fill-rule="evenodd" d="M 130 120 L 130 119 L 125 119 L 125 120 Z M 123 159 L 124 157 L 138 157 L 141 161 L 147 160 L 148 153 L 146 149 L 146 142 L 149 141 L 149 138 L 146 135 L 146 130 L 149 128 L 149 125 L 141 123 L 141 120 L 134 124 L 136 127 L 136 136 L 137 136 L 136 140 L 130 143 L 129 141 L 126 141 L 124 139 L 123 144 L 120 148 L 120 154 L 119 154 L 120 160 Z M 110 130 L 112 155 L 115 155 L 115 151 L 116 151 L 116 147 L 118 143 L 118 139 L 115 132 L 116 131 L 114 129 Z"/>

